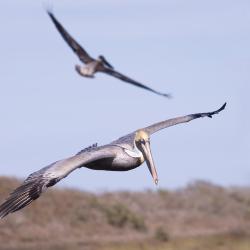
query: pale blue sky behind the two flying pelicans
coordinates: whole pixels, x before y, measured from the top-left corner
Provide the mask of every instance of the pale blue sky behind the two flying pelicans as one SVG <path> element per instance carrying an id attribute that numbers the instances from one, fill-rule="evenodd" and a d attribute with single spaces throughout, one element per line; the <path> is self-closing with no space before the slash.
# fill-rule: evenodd
<path id="1" fill-rule="evenodd" d="M 92 56 L 166 100 L 103 74 L 74 71 L 77 57 L 44 5 Z M 26 177 L 92 143 L 109 143 L 167 118 L 224 112 L 151 138 L 160 188 L 205 179 L 250 185 L 250 2 L 230 0 L 5 0 L 0 4 L 0 174 Z M 132 61 L 131 61 L 132 60 Z M 81 169 L 62 185 L 155 188 L 146 165 Z"/>

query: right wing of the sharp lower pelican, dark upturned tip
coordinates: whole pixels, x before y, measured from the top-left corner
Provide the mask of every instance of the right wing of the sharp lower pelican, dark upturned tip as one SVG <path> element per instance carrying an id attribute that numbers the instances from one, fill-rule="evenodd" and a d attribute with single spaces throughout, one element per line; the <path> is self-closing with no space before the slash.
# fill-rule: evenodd
<path id="1" fill-rule="evenodd" d="M 212 118 L 213 115 L 216 115 L 220 113 L 225 107 L 226 107 L 226 102 L 217 110 L 212 111 L 212 112 L 206 112 L 206 113 L 196 113 L 196 114 L 191 114 L 191 115 L 186 115 L 186 116 L 180 116 L 177 118 L 169 119 L 166 121 L 158 122 L 155 123 L 151 126 L 148 126 L 146 128 L 143 128 L 142 130 L 146 131 L 149 135 L 157 132 L 158 130 L 177 125 L 179 123 L 184 123 L 184 122 L 189 122 L 197 118 L 201 117 L 209 117 Z"/>

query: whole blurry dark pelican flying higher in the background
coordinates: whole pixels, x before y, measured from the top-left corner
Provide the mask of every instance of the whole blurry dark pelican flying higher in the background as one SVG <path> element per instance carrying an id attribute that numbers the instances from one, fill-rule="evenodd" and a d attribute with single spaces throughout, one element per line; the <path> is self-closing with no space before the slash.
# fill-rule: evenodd
<path id="1" fill-rule="evenodd" d="M 76 71 L 81 76 L 93 78 L 94 74 L 96 72 L 102 72 L 102 73 L 106 73 L 108 75 L 114 76 L 114 77 L 116 77 L 124 82 L 131 83 L 137 87 L 149 90 L 155 94 L 158 94 L 158 95 L 161 95 L 164 97 L 168 97 L 168 98 L 171 97 L 170 94 L 165 94 L 165 93 L 161 93 L 159 91 L 156 91 L 156 90 L 154 90 L 154 89 L 152 89 L 152 88 L 150 88 L 142 83 L 139 83 L 139 82 L 117 72 L 116 70 L 114 70 L 113 66 L 105 59 L 104 56 L 99 56 L 98 59 L 92 58 L 85 51 L 85 49 L 83 47 L 81 47 L 81 45 L 79 43 L 77 43 L 74 40 L 74 38 L 64 29 L 64 27 L 57 21 L 57 19 L 53 15 L 53 13 L 49 10 L 47 12 L 48 12 L 49 16 L 51 17 L 51 20 L 55 24 L 57 30 L 62 35 L 63 39 L 71 47 L 71 49 L 77 54 L 80 61 L 85 64 L 85 66 L 80 66 L 80 65 L 75 66 Z"/>

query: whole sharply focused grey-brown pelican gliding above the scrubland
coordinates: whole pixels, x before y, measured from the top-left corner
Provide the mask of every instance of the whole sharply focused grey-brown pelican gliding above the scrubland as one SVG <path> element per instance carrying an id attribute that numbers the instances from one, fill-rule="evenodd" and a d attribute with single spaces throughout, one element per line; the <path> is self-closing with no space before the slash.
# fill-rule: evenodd
<path id="1" fill-rule="evenodd" d="M 0 206 L 0 218 L 13 213 L 37 199 L 48 187 L 67 177 L 78 168 L 94 170 L 128 171 L 139 167 L 146 161 L 155 184 L 158 176 L 150 149 L 150 136 L 167 127 L 189 122 L 201 117 L 218 114 L 226 103 L 216 111 L 181 116 L 151 126 L 138 129 L 104 146 L 92 146 L 83 149 L 69 158 L 56 161 L 28 176 L 21 186 L 15 189 Z"/>

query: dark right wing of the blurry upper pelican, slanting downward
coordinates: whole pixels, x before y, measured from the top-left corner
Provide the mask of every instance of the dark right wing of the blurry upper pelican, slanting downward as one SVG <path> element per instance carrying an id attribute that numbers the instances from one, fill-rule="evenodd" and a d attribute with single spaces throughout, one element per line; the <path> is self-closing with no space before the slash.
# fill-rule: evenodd
<path id="1" fill-rule="evenodd" d="M 127 77 L 127 76 L 125 76 L 125 75 L 117 72 L 117 71 L 115 71 L 112 68 L 108 68 L 108 67 L 104 67 L 104 66 L 100 65 L 98 67 L 98 71 L 101 71 L 101 72 L 106 73 L 108 75 L 114 76 L 114 77 L 116 77 L 116 78 L 118 78 L 118 79 L 120 79 L 120 80 L 122 80 L 124 82 L 131 83 L 131 84 L 133 84 L 133 85 L 135 85 L 137 87 L 140 87 L 140 88 L 146 89 L 148 91 L 151 91 L 151 92 L 153 92 L 153 93 L 155 93 L 157 95 L 161 95 L 161 96 L 164 96 L 164 97 L 167 97 L 167 98 L 171 98 L 170 94 L 161 93 L 159 91 L 151 89 L 148 86 L 146 86 L 146 85 L 144 85 L 142 83 L 139 83 L 139 82 L 137 82 L 137 81 L 135 81 L 135 80 L 133 80 L 133 79 L 131 79 L 131 78 L 129 78 L 129 77 Z"/>

